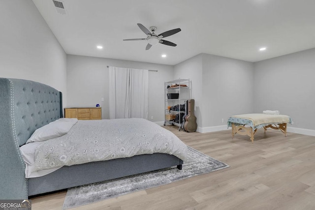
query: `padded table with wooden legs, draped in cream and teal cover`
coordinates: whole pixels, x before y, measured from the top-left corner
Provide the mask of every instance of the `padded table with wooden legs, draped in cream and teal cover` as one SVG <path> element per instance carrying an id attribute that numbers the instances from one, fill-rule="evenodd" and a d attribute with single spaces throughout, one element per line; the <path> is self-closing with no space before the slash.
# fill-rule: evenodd
<path id="1" fill-rule="evenodd" d="M 227 120 L 227 127 L 232 127 L 232 138 L 236 133 L 248 135 L 254 142 L 254 135 L 258 128 L 281 130 L 286 136 L 286 124 L 293 124 L 292 119 L 287 115 L 270 114 L 244 114 L 231 116 Z"/>

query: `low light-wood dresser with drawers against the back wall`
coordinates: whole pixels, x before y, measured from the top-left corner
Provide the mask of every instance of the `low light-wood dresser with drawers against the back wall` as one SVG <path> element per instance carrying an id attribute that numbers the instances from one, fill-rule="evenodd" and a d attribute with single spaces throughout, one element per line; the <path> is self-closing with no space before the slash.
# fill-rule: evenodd
<path id="1" fill-rule="evenodd" d="M 101 120 L 102 108 L 64 108 L 64 117 L 77 118 L 78 120 Z"/>

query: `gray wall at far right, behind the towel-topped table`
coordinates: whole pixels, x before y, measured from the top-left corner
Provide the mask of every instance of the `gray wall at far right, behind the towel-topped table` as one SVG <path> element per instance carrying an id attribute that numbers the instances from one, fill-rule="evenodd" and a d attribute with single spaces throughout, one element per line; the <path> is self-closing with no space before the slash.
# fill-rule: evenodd
<path id="1" fill-rule="evenodd" d="M 315 130 L 315 49 L 254 63 L 254 111 L 279 110 Z"/>

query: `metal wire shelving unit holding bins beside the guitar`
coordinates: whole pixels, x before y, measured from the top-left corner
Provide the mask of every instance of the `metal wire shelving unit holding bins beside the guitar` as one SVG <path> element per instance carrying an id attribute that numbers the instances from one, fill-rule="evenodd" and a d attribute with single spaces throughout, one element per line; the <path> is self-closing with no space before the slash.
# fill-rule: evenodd
<path id="1" fill-rule="evenodd" d="M 188 100 L 191 98 L 191 81 L 189 79 L 178 79 L 178 80 L 172 80 L 164 83 L 165 88 L 165 121 L 164 125 L 172 124 L 178 126 L 178 130 L 181 129 L 183 119 L 181 119 L 181 113 L 185 114 L 185 100 Z M 175 86 L 177 85 L 177 86 Z M 174 87 L 173 87 L 174 86 Z M 176 99 L 169 99 L 167 97 L 167 93 L 178 93 L 179 97 Z M 168 107 L 174 107 L 176 105 L 179 105 L 178 110 L 169 110 Z M 181 105 L 184 105 L 184 107 Z M 176 116 L 179 115 L 179 121 L 170 120 L 167 117 L 170 116 Z M 183 115 L 183 114 L 182 114 Z"/>

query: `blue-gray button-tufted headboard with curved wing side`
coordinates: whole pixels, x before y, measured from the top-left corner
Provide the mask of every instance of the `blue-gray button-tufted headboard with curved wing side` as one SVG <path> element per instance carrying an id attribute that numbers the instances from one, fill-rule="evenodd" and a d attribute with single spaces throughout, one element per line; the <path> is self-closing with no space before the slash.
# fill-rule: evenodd
<path id="1" fill-rule="evenodd" d="M 62 117 L 58 90 L 29 80 L 0 78 L 0 199 L 28 198 L 19 147 L 37 128 Z"/>

